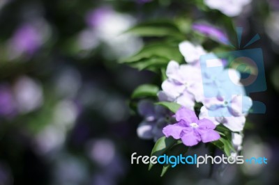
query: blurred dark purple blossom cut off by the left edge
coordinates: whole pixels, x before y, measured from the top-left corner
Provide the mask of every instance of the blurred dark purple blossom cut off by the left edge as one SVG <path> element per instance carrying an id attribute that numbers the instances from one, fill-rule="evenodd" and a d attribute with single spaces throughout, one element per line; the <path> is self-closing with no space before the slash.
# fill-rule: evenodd
<path id="1" fill-rule="evenodd" d="M 0 86 L 0 115 L 13 115 L 16 111 L 15 101 L 7 86 Z"/>

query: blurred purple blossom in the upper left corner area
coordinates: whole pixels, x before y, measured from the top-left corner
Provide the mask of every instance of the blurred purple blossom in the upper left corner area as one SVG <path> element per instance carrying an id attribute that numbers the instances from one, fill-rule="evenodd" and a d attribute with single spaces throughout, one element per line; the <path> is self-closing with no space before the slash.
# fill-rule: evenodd
<path id="1" fill-rule="evenodd" d="M 32 24 L 23 24 L 18 28 L 10 41 L 15 55 L 33 55 L 43 44 L 43 35 Z"/>

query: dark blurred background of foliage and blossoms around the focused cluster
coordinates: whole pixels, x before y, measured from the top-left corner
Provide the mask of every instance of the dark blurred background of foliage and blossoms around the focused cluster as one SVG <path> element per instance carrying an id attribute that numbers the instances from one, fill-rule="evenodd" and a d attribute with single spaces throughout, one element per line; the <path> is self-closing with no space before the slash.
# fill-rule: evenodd
<path id="1" fill-rule="evenodd" d="M 160 86 L 160 75 L 117 63 L 146 42 L 119 34 L 137 22 L 177 16 L 226 24 L 199 3 L 0 1 L 0 185 L 278 184 L 278 1 L 253 1 L 232 18 L 243 26 L 243 43 L 261 37 L 250 48 L 262 48 L 267 90 L 251 97 L 266 104 L 266 113 L 248 117 L 243 154 L 269 163 L 219 166 L 212 176 L 209 166 L 179 166 L 165 177 L 159 167 L 130 164 L 133 152 L 149 155 L 153 141 L 137 137 L 142 118 L 128 100 L 142 83 Z M 86 16 L 104 7 L 122 18 L 89 24 Z"/>

